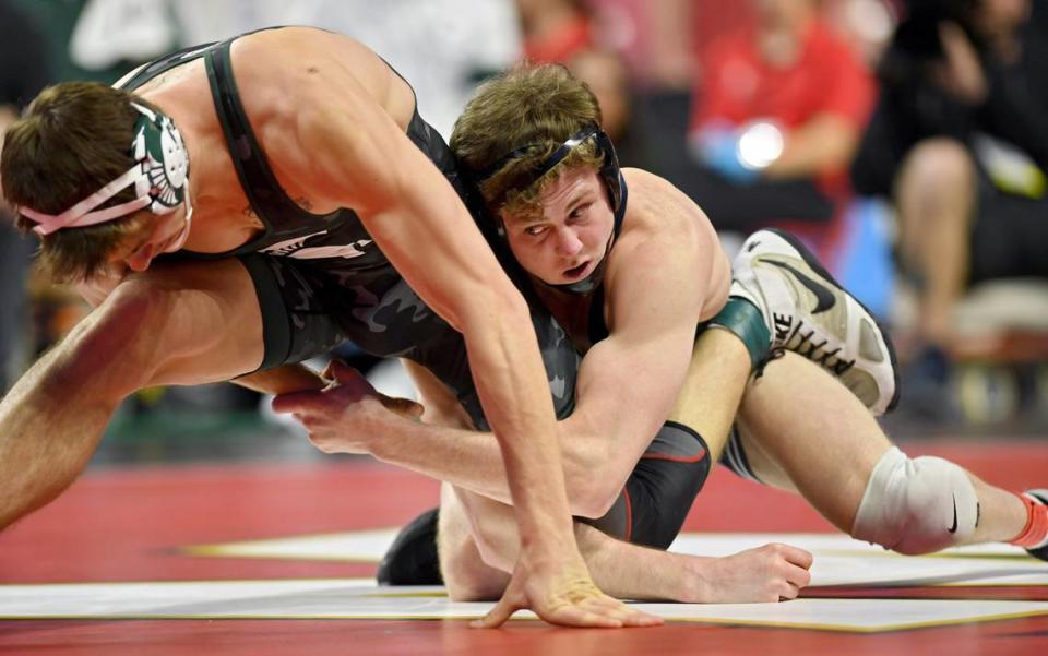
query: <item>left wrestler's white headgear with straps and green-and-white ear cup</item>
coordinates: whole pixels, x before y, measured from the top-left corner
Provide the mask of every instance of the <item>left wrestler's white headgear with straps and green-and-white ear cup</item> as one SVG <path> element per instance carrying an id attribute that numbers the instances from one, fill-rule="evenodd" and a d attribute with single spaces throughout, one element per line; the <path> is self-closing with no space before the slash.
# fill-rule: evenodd
<path id="1" fill-rule="evenodd" d="M 143 207 L 150 207 L 153 214 L 168 214 L 187 200 L 189 153 L 178 128 L 164 114 L 138 103 L 131 103 L 131 106 L 141 115 L 134 122 L 134 141 L 131 143 L 134 166 L 61 214 L 20 207 L 19 212 L 37 222 L 34 232 L 43 237 L 64 228 L 93 226 Z M 131 184 L 134 184 L 133 201 L 95 210 Z"/>

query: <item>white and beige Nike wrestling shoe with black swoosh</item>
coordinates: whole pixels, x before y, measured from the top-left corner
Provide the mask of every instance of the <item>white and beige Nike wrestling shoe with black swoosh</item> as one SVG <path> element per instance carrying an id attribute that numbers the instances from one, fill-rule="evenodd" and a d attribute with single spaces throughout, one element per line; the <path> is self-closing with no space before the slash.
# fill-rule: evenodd
<path id="1" fill-rule="evenodd" d="M 791 350 L 843 382 L 874 415 L 898 403 L 898 368 L 888 334 L 796 237 L 750 235 L 731 263 L 733 296 L 761 311 L 771 350 Z"/>

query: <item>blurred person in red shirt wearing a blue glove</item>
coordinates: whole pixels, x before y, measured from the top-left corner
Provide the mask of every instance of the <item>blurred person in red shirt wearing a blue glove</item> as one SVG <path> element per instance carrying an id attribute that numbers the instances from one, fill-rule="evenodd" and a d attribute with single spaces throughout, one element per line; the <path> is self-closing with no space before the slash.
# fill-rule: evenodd
<path id="1" fill-rule="evenodd" d="M 873 99 L 820 0 L 751 0 L 752 26 L 704 51 L 692 162 L 666 174 L 718 230 L 825 224 L 848 198 L 847 167 Z"/>

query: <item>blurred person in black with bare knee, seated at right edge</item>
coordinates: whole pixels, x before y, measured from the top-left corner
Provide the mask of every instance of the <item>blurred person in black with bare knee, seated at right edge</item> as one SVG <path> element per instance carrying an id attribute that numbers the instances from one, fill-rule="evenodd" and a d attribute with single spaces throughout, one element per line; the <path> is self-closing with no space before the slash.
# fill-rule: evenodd
<path id="1" fill-rule="evenodd" d="M 1031 0 L 912 0 L 853 168 L 894 200 L 920 278 L 920 336 L 941 360 L 973 283 L 1048 277 L 1048 11 Z"/>

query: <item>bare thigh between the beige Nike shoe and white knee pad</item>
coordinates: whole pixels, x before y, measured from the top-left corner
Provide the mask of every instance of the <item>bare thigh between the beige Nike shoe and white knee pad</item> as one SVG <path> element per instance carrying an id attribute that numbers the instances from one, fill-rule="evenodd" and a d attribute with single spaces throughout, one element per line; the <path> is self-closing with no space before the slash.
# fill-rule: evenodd
<path id="1" fill-rule="evenodd" d="M 755 456 L 747 453 L 751 465 L 762 460 L 772 479 L 776 470 L 784 473 L 806 499 L 845 529 L 850 528 L 874 465 L 891 448 L 854 394 L 791 353 L 771 362 L 747 389 L 739 427 Z"/>

